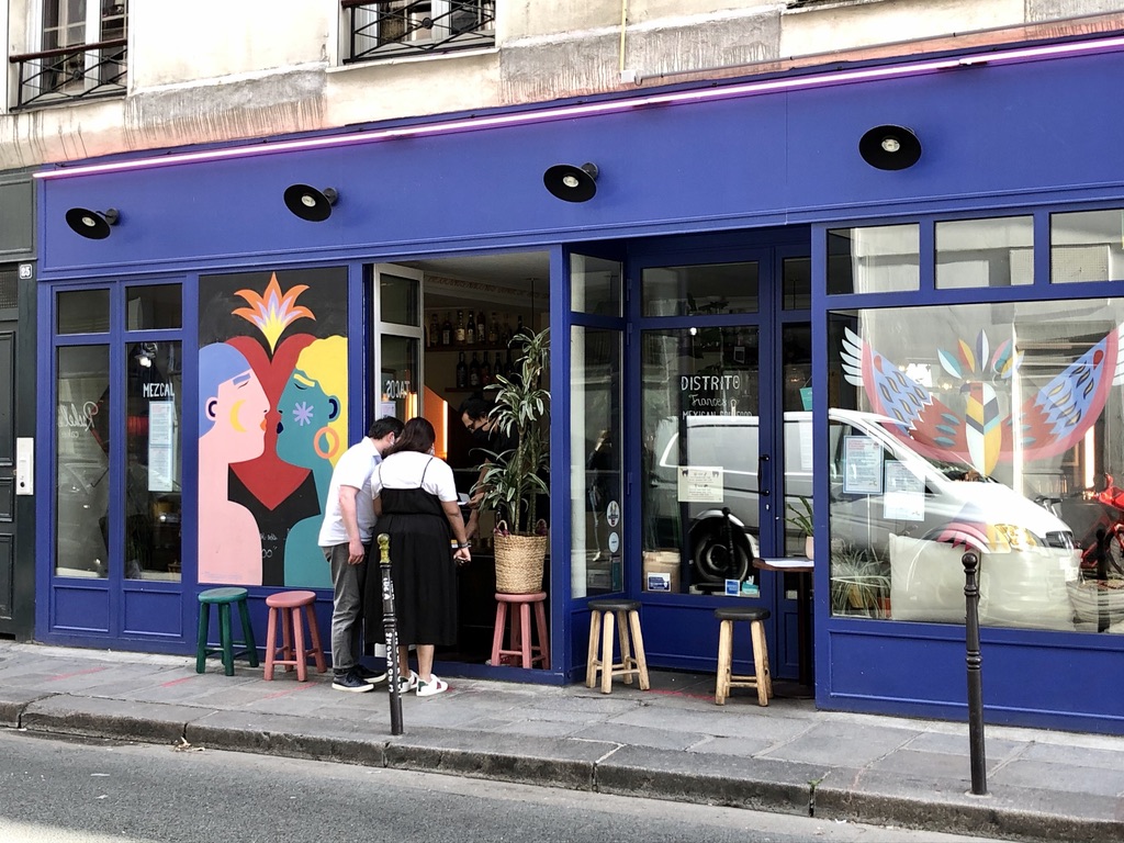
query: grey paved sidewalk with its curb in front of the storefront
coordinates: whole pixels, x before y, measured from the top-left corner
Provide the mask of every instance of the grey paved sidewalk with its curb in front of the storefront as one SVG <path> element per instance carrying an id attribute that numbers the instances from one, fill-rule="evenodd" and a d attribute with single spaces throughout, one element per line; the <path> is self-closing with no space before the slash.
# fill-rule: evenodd
<path id="1" fill-rule="evenodd" d="M 653 674 L 611 695 L 453 679 L 402 699 L 239 663 L 0 642 L 0 726 L 188 744 L 641 795 L 1027 841 L 1124 840 L 1124 737 L 989 726 L 988 790 L 970 795 L 968 727 L 817 711 L 810 700 L 714 705 L 713 677 Z"/>

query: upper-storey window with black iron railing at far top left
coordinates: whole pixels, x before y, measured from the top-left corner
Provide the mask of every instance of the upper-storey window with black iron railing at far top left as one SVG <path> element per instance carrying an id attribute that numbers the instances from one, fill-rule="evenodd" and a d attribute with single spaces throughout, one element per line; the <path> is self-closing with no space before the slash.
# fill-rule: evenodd
<path id="1" fill-rule="evenodd" d="M 38 48 L 9 57 L 19 71 L 17 108 L 125 93 L 125 0 L 42 0 L 39 10 Z"/>

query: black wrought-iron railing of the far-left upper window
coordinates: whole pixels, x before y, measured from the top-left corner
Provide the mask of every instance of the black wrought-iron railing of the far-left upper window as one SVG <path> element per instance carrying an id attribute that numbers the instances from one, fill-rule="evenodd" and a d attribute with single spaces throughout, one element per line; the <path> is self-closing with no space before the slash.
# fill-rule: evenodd
<path id="1" fill-rule="evenodd" d="M 124 94 L 127 44 L 110 38 L 10 56 L 19 65 L 16 108 Z"/>

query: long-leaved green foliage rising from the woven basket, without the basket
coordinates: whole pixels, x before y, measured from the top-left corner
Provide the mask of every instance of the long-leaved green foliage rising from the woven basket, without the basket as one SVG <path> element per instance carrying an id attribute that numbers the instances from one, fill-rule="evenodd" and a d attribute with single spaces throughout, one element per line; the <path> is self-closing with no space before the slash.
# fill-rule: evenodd
<path id="1" fill-rule="evenodd" d="M 517 372 L 497 375 L 486 387 L 495 392 L 496 406 L 489 418 L 500 432 L 514 435 L 515 447 L 488 453 L 490 462 L 473 488 L 481 493 L 480 506 L 492 509 L 513 533 L 531 534 L 538 522 L 537 500 L 550 495 L 547 447 L 551 393 L 542 387 L 550 360 L 550 334 L 524 332 L 511 341 L 519 352 Z"/>

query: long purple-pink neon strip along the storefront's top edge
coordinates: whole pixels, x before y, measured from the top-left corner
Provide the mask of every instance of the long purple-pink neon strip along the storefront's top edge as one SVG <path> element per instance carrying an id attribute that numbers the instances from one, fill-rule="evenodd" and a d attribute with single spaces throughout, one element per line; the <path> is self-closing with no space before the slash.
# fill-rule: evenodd
<path id="1" fill-rule="evenodd" d="M 355 144 L 377 143 L 379 140 L 392 140 L 400 137 L 444 135 L 454 132 L 474 132 L 486 128 L 496 128 L 499 126 L 524 126 L 535 123 L 546 123 L 550 120 L 589 117 L 591 115 L 618 114 L 633 108 L 643 108 L 645 106 L 671 106 L 680 102 L 703 102 L 707 100 L 753 97 L 755 94 L 776 93 L 779 91 L 799 91 L 809 88 L 865 82 L 874 79 L 899 79 L 901 76 L 917 75 L 921 73 L 934 73 L 936 71 L 951 70 L 953 67 L 1058 57 L 1079 53 L 1117 49 L 1122 47 L 1124 47 L 1124 37 L 1099 38 L 1096 40 L 1078 42 L 1073 44 L 1050 44 L 1037 47 L 998 51 L 995 53 L 979 53 L 970 56 L 940 58 L 928 62 L 915 62 L 913 64 L 887 67 L 867 67 L 853 71 L 817 73 L 808 76 L 770 79 L 758 82 L 743 82 L 741 84 L 720 88 L 672 91 L 669 93 L 656 93 L 647 97 L 633 97 L 628 99 L 607 100 L 605 102 L 561 106 L 558 108 L 544 108 L 532 111 L 520 111 L 517 114 L 496 115 L 492 117 L 470 117 L 456 120 L 442 120 L 439 123 L 428 123 L 418 126 L 404 126 L 392 129 L 359 132 L 351 135 L 311 137 L 299 140 L 279 140 L 277 143 L 265 143 L 253 146 L 234 146 L 223 149 L 208 149 L 205 152 L 185 152 L 172 155 L 134 158 L 132 161 L 117 161 L 105 164 L 85 164 L 73 167 L 62 166 L 57 170 L 45 170 L 33 173 L 31 175 L 36 179 L 66 179 L 75 175 L 93 175 L 97 173 L 110 173 L 123 170 L 171 166 L 173 164 L 189 164 L 200 161 L 220 161 L 225 158 L 247 157 L 251 155 L 273 155 L 282 152 L 293 152 L 296 149 L 351 146 Z"/>

